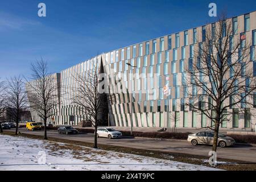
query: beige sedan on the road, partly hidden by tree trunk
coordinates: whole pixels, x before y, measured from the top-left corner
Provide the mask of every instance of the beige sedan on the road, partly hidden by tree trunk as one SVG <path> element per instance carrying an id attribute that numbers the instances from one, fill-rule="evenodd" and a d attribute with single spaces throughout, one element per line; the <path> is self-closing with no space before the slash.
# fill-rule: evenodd
<path id="1" fill-rule="evenodd" d="M 191 142 L 193 146 L 197 144 L 213 144 L 214 133 L 210 131 L 200 131 L 199 133 L 188 135 L 188 142 Z M 227 147 L 232 146 L 236 143 L 236 141 L 227 137 L 224 134 L 218 134 L 218 146 Z"/>

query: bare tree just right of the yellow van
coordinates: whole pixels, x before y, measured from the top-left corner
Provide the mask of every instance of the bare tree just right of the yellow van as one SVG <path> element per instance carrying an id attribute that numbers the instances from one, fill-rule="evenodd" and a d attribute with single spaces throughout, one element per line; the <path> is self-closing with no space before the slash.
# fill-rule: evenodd
<path id="1" fill-rule="evenodd" d="M 59 105 L 59 82 L 57 75 L 48 72 L 47 62 L 41 59 L 31 64 L 31 81 L 26 90 L 31 111 L 44 122 L 44 139 L 47 139 L 47 121 L 57 113 Z"/>

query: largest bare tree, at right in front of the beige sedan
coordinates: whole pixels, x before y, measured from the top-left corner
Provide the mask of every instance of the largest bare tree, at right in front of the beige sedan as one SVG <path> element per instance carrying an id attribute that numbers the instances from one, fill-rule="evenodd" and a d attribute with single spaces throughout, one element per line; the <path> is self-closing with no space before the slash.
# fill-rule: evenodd
<path id="1" fill-rule="evenodd" d="M 248 115 L 253 107 L 256 82 L 250 42 L 237 31 L 232 19 L 222 14 L 202 31 L 202 42 L 195 44 L 186 67 L 189 100 L 185 105 L 211 121 L 205 127 L 214 131 L 212 151 L 217 150 L 220 125 L 232 118 L 233 110 L 228 109 Z"/>

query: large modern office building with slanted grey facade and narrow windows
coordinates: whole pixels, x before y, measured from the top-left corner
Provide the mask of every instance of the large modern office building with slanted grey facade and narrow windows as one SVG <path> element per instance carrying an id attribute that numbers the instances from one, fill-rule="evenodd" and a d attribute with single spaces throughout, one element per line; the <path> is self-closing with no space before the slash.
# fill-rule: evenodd
<path id="1" fill-rule="evenodd" d="M 251 42 L 251 67 L 256 68 L 256 11 L 233 17 L 231 20 L 234 34 L 245 35 L 246 41 Z M 71 88 L 77 84 L 72 75 L 74 73 L 84 74 L 92 69 L 93 63 L 101 64 L 102 59 L 101 66 L 109 77 L 109 86 L 117 85 L 117 80 L 122 77 L 122 89 L 128 91 L 128 93 L 114 93 L 110 90 L 108 94 L 111 126 L 131 126 L 131 115 L 134 127 L 200 128 L 210 125 L 211 121 L 204 114 L 188 107 L 184 108 L 181 103 L 187 97 L 184 92 L 183 80 L 186 76 L 184 68 L 189 60 L 195 59 L 193 57 L 194 45 L 203 42 L 205 28 L 214 27 L 214 25 L 214 23 L 207 24 L 102 53 L 61 71 L 60 105 L 57 108 L 59 114 L 56 115 L 56 124 L 71 124 L 72 118 L 74 124 L 77 125 L 85 119 L 70 99 Z M 131 80 L 129 73 L 131 72 L 135 76 L 133 88 L 129 86 L 129 80 Z M 117 76 L 118 79 L 113 80 L 111 76 Z M 168 95 L 164 94 L 165 85 L 169 87 Z M 132 92 L 130 92 L 131 89 Z M 131 104 L 133 114 L 130 114 Z M 233 117 L 229 122 L 222 123 L 222 128 L 250 130 L 254 127 L 256 118 L 253 115 L 248 117 L 246 114 L 237 114 L 235 108 L 229 111 L 233 111 Z M 250 112 L 255 113 L 255 111 L 253 109 Z M 35 119 L 34 114 L 32 117 Z"/>

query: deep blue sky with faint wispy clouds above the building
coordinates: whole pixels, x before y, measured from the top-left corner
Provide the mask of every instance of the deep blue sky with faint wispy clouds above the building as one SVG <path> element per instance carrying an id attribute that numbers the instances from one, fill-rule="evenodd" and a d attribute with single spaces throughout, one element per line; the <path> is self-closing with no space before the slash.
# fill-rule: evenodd
<path id="1" fill-rule="evenodd" d="M 38 16 L 40 2 L 46 17 Z M 256 10 L 255 0 L 1 0 L 0 77 L 29 76 L 40 57 L 60 72 L 101 52 L 214 22 L 210 2 L 229 17 Z"/>

